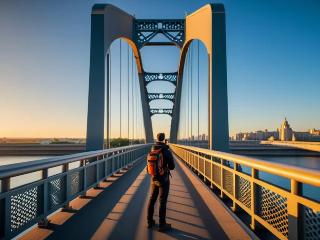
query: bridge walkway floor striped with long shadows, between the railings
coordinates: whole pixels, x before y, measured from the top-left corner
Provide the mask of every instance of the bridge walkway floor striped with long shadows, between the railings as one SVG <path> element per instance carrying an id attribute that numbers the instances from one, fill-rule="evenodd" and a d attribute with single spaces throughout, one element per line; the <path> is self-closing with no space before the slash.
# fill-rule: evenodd
<path id="1" fill-rule="evenodd" d="M 204 184 L 175 161 L 166 218 L 172 229 L 157 232 L 158 202 L 156 226 L 146 228 L 150 175 L 141 161 L 75 199 L 71 212 L 52 215 L 49 228 L 34 228 L 20 239 L 251 239 Z"/>

